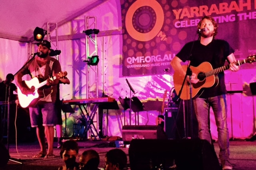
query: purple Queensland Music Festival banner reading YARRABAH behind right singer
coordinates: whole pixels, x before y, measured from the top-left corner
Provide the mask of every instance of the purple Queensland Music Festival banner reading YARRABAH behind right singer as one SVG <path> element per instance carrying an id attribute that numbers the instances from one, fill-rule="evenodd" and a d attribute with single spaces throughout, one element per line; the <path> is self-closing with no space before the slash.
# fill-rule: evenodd
<path id="1" fill-rule="evenodd" d="M 121 0 L 122 75 L 172 74 L 170 61 L 198 39 L 197 24 L 212 16 L 216 39 L 226 40 L 237 59 L 256 53 L 256 0 Z M 255 68 L 255 63 L 242 68 Z"/>

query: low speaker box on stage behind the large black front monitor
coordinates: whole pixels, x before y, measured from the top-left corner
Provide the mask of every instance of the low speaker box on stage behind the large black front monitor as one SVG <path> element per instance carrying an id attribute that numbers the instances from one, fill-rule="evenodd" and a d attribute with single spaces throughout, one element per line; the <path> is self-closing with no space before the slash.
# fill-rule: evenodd
<path id="1" fill-rule="evenodd" d="M 123 141 L 132 139 L 156 139 L 156 125 L 124 125 L 122 128 Z"/>

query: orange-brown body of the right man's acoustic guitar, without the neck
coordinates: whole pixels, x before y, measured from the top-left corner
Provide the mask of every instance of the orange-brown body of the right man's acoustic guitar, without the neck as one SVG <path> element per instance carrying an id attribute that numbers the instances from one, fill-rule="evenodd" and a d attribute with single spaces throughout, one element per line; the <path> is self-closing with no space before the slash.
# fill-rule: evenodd
<path id="1" fill-rule="evenodd" d="M 184 71 L 187 70 L 186 65 L 182 65 L 182 69 Z M 199 73 L 205 73 L 207 71 L 212 70 L 212 65 L 208 62 L 203 62 L 198 67 L 190 66 L 192 73 L 196 73 L 198 76 Z M 173 81 L 174 81 L 174 88 L 177 94 L 180 93 L 180 89 L 182 87 L 184 77 L 180 75 L 180 73 L 174 72 Z M 212 87 L 218 84 L 218 76 L 211 75 L 209 77 L 199 78 L 198 83 L 192 83 L 192 98 L 198 97 L 202 94 L 204 88 Z M 186 80 L 184 83 L 184 87 L 182 89 L 182 93 L 180 94 L 180 99 L 189 100 L 190 99 L 190 89 L 189 89 L 189 82 Z"/>

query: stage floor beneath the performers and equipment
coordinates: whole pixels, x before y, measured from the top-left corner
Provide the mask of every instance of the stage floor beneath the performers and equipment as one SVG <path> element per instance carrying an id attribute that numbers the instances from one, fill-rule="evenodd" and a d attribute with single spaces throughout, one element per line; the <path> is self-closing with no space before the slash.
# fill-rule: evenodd
<path id="1" fill-rule="evenodd" d="M 104 168 L 104 158 L 108 150 L 115 148 L 114 141 L 107 140 L 86 140 L 78 141 L 79 156 L 84 150 L 94 149 L 100 155 L 100 166 Z M 5 145 L 6 146 L 6 145 Z M 39 151 L 38 142 L 10 144 L 9 154 L 11 160 L 8 161 L 7 167 L 4 170 L 58 170 L 59 166 L 63 165 L 63 160 L 60 158 L 60 149 L 56 148 L 57 143 L 54 142 L 55 158 L 32 158 Z M 152 146 L 154 147 L 154 146 Z M 218 156 L 218 143 L 214 143 L 214 147 Z M 7 146 L 6 146 L 7 148 Z M 126 152 L 129 163 L 128 148 L 121 148 Z M 148 148 L 150 150 L 150 148 Z M 77 159 L 77 161 L 78 161 Z M 17 160 L 17 163 L 12 160 Z M 256 170 L 256 141 L 232 140 L 230 141 L 230 162 L 233 164 L 233 170 Z M 128 169 L 129 164 L 128 164 Z M 193 169 L 193 168 L 192 168 Z"/>

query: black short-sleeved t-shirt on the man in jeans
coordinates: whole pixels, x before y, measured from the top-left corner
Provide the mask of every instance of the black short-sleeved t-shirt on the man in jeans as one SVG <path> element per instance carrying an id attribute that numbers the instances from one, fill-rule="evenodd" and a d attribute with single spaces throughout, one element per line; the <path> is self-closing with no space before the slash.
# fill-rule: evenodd
<path id="1" fill-rule="evenodd" d="M 191 54 L 190 54 L 191 51 Z M 199 40 L 184 45 L 176 55 L 183 62 L 190 60 L 191 66 L 198 67 L 203 62 L 209 62 L 213 69 L 222 67 L 228 55 L 234 52 L 228 42 L 224 40 L 212 40 L 208 45 L 202 45 Z M 190 57 L 189 57 L 190 55 Z M 204 70 L 202 70 L 204 71 Z M 226 94 L 224 72 L 218 73 L 218 84 L 210 88 L 204 88 L 200 98 L 214 97 Z"/>

